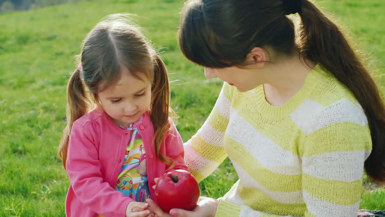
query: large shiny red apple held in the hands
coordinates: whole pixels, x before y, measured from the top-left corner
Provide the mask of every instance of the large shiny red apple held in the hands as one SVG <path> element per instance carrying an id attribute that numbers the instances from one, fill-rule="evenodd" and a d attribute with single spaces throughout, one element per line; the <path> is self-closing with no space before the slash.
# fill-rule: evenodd
<path id="1" fill-rule="evenodd" d="M 196 207 L 201 190 L 198 182 L 186 170 L 174 170 L 159 177 L 155 188 L 159 207 L 169 213 L 171 209 L 192 210 Z"/>

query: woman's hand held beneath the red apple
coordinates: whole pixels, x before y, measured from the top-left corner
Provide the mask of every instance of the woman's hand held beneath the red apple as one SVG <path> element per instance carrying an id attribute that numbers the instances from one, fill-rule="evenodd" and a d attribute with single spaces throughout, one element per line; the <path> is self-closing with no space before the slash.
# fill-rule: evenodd
<path id="1" fill-rule="evenodd" d="M 170 210 L 170 214 L 167 214 L 159 208 L 153 200 L 147 199 L 146 201 L 149 204 L 149 209 L 151 209 L 152 213 L 156 214 L 157 217 L 214 217 L 219 203 L 218 200 L 213 198 L 200 197 L 198 205 L 192 211 L 172 209 Z"/>

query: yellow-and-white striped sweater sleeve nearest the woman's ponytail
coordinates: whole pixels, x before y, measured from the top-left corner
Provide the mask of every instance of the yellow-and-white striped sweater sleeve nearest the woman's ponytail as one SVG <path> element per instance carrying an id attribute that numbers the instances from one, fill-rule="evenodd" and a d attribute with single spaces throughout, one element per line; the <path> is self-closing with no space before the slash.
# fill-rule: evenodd
<path id="1" fill-rule="evenodd" d="M 362 107 L 339 100 L 313 115 L 299 152 L 305 216 L 357 216 L 372 149 Z"/>

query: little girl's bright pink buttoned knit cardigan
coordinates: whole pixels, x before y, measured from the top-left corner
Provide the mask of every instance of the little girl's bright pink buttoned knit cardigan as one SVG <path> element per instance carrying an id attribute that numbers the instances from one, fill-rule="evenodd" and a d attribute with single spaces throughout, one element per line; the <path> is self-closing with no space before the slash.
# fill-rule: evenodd
<path id="1" fill-rule="evenodd" d="M 154 128 L 148 113 L 137 126 L 147 153 L 147 176 L 151 198 L 156 201 L 152 186 L 154 178 L 182 169 L 184 148 L 182 139 L 172 123 L 172 130 L 166 134 L 161 152 L 174 159 L 175 166 L 168 169 L 155 153 Z M 76 120 L 72 126 L 67 149 L 67 173 L 71 182 L 65 201 L 67 217 L 125 217 L 131 198 L 114 190 L 119 170 L 126 153 L 129 133 L 116 126 L 105 112 L 93 110 Z"/>

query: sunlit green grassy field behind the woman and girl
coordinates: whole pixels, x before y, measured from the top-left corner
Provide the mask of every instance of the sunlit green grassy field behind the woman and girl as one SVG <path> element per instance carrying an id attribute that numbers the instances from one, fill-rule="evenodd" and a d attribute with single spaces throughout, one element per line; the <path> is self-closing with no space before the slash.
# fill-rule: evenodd
<path id="1" fill-rule="evenodd" d="M 144 3 L 146 2 L 146 3 Z M 385 2 L 325 0 L 385 71 Z M 181 55 L 176 42 L 182 0 L 105 0 L 0 14 L 0 217 L 64 216 L 69 181 L 56 146 L 65 126 L 66 76 L 75 68 L 85 34 L 102 17 L 129 12 L 157 49 L 165 51 L 172 83 L 172 107 L 187 141 L 203 124 L 221 88 Z M 378 76 L 382 86 L 385 80 Z M 203 195 L 220 197 L 238 179 L 226 160 L 200 183 Z M 367 183 L 367 182 L 365 182 Z M 385 209 L 385 192 L 370 188 L 361 208 Z M 374 190 L 374 191 L 372 191 Z"/>

